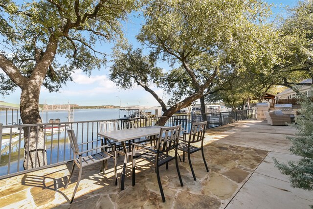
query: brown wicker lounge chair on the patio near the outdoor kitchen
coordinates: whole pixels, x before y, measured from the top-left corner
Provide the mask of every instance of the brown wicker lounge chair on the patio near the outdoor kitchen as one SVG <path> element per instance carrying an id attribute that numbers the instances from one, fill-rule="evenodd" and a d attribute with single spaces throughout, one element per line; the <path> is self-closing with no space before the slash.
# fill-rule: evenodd
<path id="1" fill-rule="evenodd" d="M 293 114 L 283 114 L 281 110 L 265 112 L 264 114 L 269 125 L 286 125 L 286 123 L 291 123 L 291 117 L 294 117 Z"/>

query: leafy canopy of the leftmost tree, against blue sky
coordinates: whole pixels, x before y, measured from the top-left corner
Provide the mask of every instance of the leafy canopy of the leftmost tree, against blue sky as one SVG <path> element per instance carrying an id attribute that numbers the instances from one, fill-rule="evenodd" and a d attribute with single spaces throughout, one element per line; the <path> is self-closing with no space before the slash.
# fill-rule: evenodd
<path id="1" fill-rule="evenodd" d="M 75 69 L 89 74 L 106 63 L 106 54 L 95 46 L 122 40 L 121 21 L 136 8 L 136 0 L 1 1 L 0 55 L 30 78 L 39 62 L 36 55 L 42 59 L 51 39 L 57 40 L 55 59 L 48 70 L 43 69 L 47 70 L 43 85 L 50 92 L 58 91 Z M 0 93 L 6 90 L 13 88 Z"/>

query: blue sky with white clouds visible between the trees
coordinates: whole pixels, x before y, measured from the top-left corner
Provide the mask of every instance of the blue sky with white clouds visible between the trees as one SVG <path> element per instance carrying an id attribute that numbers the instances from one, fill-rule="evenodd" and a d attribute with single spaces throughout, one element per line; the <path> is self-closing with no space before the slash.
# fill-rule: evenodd
<path id="1" fill-rule="evenodd" d="M 267 0 L 268 3 L 274 4 L 272 8 L 274 14 L 286 16 L 283 6 L 289 5 L 293 7 L 297 0 Z M 124 35 L 134 47 L 140 44 L 136 41 L 135 36 L 138 34 L 142 19 L 132 17 L 127 23 L 124 23 Z M 106 53 L 110 53 L 112 45 L 103 44 Z M 110 65 L 110 63 L 108 63 Z M 109 66 L 102 67 L 101 70 L 93 70 L 91 75 L 86 75 L 82 70 L 76 70 L 73 74 L 73 82 L 67 84 L 58 93 L 49 93 L 44 87 L 41 90 L 40 104 L 77 104 L 80 106 L 96 106 L 96 105 L 156 105 L 159 106 L 156 99 L 143 88 L 134 86 L 133 89 L 123 90 L 108 79 Z M 166 63 L 159 63 L 158 67 L 164 70 L 170 70 Z M 2 72 L 2 70 L 0 70 Z M 156 93 L 167 101 L 169 98 L 163 95 L 161 89 L 153 88 Z M 21 90 L 17 90 L 9 95 L 0 96 L 0 100 L 9 103 L 20 103 Z"/>

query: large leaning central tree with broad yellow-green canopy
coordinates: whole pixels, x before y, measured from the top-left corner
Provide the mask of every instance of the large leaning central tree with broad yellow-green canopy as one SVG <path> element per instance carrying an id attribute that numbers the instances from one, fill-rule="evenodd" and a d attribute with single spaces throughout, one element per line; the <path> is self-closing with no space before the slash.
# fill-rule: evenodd
<path id="1" fill-rule="evenodd" d="M 165 118 L 201 98 L 224 70 L 236 73 L 255 61 L 250 54 L 259 49 L 262 31 L 269 32 L 258 24 L 267 12 L 258 0 L 148 1 L 143 12 L 146 23 L 137 39 L 148 46 L 151 56 L 179 66 L 167 76 L 167 81 L 177 83 L 163 82 L 167 92 L 174 93 Z M 119 78 L 115 83 L 123 86 L 126 77 Z"/>

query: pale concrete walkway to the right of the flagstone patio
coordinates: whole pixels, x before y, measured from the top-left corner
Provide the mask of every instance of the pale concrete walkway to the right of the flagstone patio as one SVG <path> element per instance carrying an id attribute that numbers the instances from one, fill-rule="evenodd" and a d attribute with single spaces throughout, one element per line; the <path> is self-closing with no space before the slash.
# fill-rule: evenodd
<path id="1" fill-rule="evenodd" d="M 266 121 L 241 121 L 230 125 L 231 129 L 218 135 L 210 134 L 211 140 L 222 137 L 219 143 L 270 152 L 225 208 L 309 209 L 309 205 L 313 205 L 313 191 L 292 188 L 288 176 L 281 174 L 273 161 L 276 158 L 287 163 L 299 159 L 289 152 L 290 142 L 286 139 L 286 135 L 294 135 L 295 130 L 288 126 L 270 126 Z"/>

